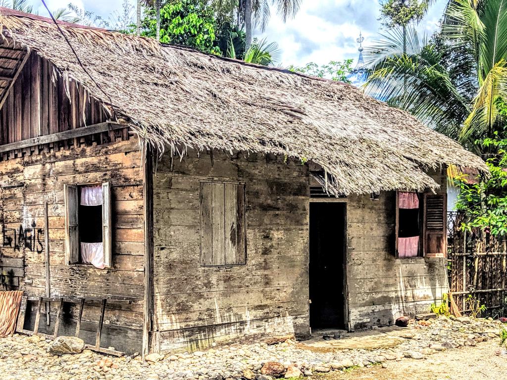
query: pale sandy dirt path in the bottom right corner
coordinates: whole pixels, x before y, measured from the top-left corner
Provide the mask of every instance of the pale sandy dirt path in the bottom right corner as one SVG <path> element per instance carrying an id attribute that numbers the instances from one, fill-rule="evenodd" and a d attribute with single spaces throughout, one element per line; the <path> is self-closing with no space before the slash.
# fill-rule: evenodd
<path id="1" fill-rule="evenodd" d="M 441 352 L 424 360 L 390 361 L 387 368 L 358 368 L 322 377 L 326 380 L 501 380 L 505 378 L 507 355 L 496 356 L 498 348 L 498 339 L 493 339 L 480 347 Z"/>

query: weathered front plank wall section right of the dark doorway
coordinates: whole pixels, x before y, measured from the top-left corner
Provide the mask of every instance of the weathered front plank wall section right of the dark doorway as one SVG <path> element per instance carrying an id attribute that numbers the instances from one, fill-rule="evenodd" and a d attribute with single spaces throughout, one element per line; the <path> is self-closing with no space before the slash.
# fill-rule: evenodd
<path id="1" fill-rule="evenodd" d="M 433 175 L 446 192 L 446 177 Z M 352 330 L 390 325 L 403 315 L 429 313 L 448 292 L 444 259 L 394 253 L 395 193 L 350 196 L 347 203 L 347 282 Z"/>

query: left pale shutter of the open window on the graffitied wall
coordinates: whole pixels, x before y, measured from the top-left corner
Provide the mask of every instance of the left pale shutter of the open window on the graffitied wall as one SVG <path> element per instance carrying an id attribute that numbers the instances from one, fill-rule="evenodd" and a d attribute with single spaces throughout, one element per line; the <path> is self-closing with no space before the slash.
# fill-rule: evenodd
<path id="1" fill-rule="evenodd" d="M 63 185 L 65 202 L 65 261 L 75 264 L 79 261 L 78 186 Z"/>

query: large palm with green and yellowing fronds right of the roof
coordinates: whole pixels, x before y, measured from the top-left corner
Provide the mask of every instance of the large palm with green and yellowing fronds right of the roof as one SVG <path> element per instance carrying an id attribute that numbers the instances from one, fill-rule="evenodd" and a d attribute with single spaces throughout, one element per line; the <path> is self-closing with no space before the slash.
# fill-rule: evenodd
<path id="1" fill-rule="evenodd" d="M 491 136 L 507 101 L 507 0 L 451 0 L 436 37 L 411 28 L 403 46 L 391 30 L 367 49 L 366 92 L 468 147 Z"/>

